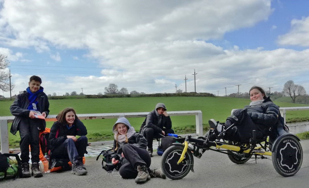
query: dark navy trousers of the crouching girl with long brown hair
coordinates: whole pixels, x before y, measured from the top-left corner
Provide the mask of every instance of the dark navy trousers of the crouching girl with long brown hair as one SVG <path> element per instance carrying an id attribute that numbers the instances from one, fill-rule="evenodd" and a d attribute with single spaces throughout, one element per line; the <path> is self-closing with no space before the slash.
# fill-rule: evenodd
<path id="1" fill-rule="evenodd" d="M 81 136 L 74 142 L 67 138 L 60 146 L 53 150 L 51 157 L 55 159 L 70 159 L 71 163 L 77 162 L 84 157 L 88 144 L 87 136 Z"/>

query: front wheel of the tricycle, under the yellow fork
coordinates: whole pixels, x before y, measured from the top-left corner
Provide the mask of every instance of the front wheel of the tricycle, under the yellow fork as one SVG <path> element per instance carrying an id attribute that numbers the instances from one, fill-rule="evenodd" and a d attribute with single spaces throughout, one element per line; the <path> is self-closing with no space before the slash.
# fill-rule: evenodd
<path id="1" fill-rule="evenodd" d="M 184 154 L 184 160 L 177 165 L 184 146 L 173 145 L 167 148 L 161 158 L 161 169 L 167 178 L 172 180 L 184 178 L 193 166 L 193 155 L 188 149 Z"/>

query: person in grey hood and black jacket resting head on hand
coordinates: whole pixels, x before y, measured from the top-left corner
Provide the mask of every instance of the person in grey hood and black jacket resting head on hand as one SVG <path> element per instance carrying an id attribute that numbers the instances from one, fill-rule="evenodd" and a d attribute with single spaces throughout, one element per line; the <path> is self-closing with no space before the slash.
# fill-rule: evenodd
<path id="1" fill-rule="evenodd" d="M 174 134 L 171 118 L 166 111 L 167 109 L 165 104 L 158 103 L 155 106 L 155 110 L 149 112 L 149 114 L 146 116 L 140 128 L 140 133 L 147 139 L 147 151 L 150 157 L 152 157 L 152 143 L 154 138 L 160 138 L 161 136 L 159 134 Z"/>

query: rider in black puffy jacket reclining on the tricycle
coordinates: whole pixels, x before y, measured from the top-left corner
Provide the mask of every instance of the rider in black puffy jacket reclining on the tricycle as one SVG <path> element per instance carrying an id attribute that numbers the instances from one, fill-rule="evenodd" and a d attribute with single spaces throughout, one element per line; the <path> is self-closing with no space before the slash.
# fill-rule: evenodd
<path id="1" fill-rule="evenodd" d="M 266 97 L 262 88 L 253 86 L 249 94 L 250 104 L 243 109 L 233 111 L 233 115 L 228 117 L 225 123 L 216 122 L 214 119 L 209 120 L 209 125 L 214 129 L 217 139 L 248 142 L 252 138 L 252 130 L 256 130 L 257 139 L 262 139 L 269 134 L 271 127 L 279 123 L 279 107 Z M 230 127 L 233 123 L 234 126 Z M 222 132 L 223 134 L 220 135 Z M 210 138 L 214 140 L 214 136 Z"/>

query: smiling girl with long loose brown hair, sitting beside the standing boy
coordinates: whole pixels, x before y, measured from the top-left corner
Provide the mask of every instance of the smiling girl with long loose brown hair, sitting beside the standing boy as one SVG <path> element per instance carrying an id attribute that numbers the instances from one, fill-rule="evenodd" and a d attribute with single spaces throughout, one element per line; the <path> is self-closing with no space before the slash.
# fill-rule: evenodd
<path id="1" fill-rule="evenodd" d="M 76 135 L 80 137 L 76 138 Z M 87 129 L 83 122 L 78 119 L 73 108 L 66 108 L 61 111 L 49 133 L 51 159 L 70 160 L 73 174 L 87 174 L 83 165 L 83 157 L 88 143 L 86 135 Z"/>

